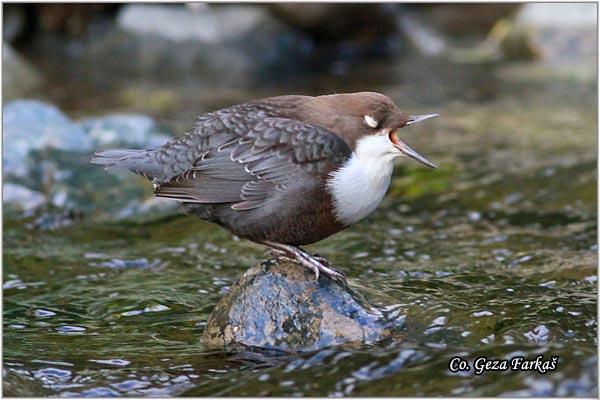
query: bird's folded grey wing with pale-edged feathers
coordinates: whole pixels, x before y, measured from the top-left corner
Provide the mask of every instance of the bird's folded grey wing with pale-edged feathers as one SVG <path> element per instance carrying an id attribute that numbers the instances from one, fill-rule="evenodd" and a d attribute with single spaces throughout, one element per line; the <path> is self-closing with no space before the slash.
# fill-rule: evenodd
<path id="1" fill-rule="evenodd" d="M 196 203 L 259 207 L 277 190 L 329 171 L 350 156 L 348 145 L 320 126 L 264 118 L 243 135 L 223 135 L 192 166 L 161 184 L 157 196 Z"/>

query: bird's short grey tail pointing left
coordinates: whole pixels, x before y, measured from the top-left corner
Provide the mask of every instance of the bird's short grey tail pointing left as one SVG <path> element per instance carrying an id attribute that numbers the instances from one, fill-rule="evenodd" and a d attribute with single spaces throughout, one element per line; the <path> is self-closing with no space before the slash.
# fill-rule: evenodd
<path id="1" fill-rule="evenodd" d="M 154 150 L 111 149 L 97 151 L 91 158 L 92 164 L 104 169 L 127 168 L 128 170 L 153 178 L 160 175 L 160 165 L 154 157 Z"/>

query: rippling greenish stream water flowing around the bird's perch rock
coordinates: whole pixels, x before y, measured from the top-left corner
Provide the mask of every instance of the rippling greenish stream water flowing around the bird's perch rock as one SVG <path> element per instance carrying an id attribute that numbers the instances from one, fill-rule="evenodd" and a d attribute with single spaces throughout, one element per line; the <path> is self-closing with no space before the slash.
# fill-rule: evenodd
<path id="1" fill-rule="evenodd" d="M 406 317 L 384 343 L 207 351 L 208 316 L 261 247 L 185 216 L 88 213 L 43 229 L 5 215 L 4 394 L 597 396 L 596 78 L 569 71 L 421 60 L 299 84 L 382 91 L 442 114 L 405 133 L 440 168 L 402 160 L 373 215 L 310 246 Z M 72 116 L 122 106 L 114 81 L 102 96 L 85 81 L 52 82 L 46 98 Z M 177 110 L 155 116 L 181 132 L 202 110 L 299 91 L 203 92 L 198 105 L 198 85 L 168 90 Z M 448 368 L 457 356 L 538 355 L 558 357 L 556 370 Z"/>

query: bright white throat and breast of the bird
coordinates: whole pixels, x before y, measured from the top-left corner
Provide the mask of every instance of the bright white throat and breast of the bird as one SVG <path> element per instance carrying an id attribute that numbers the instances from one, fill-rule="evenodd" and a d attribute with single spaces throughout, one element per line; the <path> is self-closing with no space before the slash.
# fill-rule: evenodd
<path id="1" fill-rule="evenodd" d="M 327 184 L 338 221 L 352 225 L 379 206 L 390 186 L 396 156 L 387 135 L 359 140 L 351 158 Z"/>

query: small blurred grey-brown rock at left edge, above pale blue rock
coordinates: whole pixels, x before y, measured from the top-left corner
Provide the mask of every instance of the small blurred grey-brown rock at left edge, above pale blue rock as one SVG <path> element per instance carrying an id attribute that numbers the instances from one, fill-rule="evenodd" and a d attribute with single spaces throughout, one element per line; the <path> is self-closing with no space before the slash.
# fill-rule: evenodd
<path id="1" fill-rule="evenodd" d="M 31 93 L 42 84 L 42 76 L 10 45 L 2 44 L 2 93 L 11 100 Z"/>

